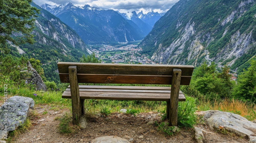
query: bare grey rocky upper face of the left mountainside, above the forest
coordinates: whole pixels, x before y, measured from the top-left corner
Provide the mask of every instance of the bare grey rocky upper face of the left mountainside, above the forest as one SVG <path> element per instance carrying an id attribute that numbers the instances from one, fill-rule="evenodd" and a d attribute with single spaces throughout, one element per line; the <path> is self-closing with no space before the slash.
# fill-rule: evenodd
<path id="1" fill-rule="evenodd" d="M 81 51 L 87 50 L 86 44 L 74 30 L 47 10 L 42 9 L 36 4 L 33 4 L 33 6 L 41 9 L 41 14 L 35 21 L 37 28 L 33 31 L 36 35 L 35 39 L 39 44 L 59 47 L 62 49 L 63 54 L 74 48 Z"/>

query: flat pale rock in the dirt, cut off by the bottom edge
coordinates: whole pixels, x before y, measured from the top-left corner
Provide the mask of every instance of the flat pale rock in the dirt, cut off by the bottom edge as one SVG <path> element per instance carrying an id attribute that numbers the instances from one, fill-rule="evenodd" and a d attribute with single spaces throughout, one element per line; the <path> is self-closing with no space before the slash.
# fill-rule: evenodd
<path id="1" fill-rule="evenodd" d="M 127 139 L 117 136 L 104 136 L 98 137 L 91 141 L 91 143 L 130 143 Z"/>

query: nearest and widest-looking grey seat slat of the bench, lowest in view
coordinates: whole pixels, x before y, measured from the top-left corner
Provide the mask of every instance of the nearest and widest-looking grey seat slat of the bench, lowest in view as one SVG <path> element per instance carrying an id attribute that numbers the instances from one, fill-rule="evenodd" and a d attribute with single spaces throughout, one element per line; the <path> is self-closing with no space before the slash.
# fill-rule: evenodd
<path id="1" fill-rule="evenodd" d="M 64 91 L 62 98 L 71 98 L 70 91 Z M 86 92 L 80 91 L 80 99 L 108 99 L 108 100 L 143 100 L 170 101 L 170 93 L 134 93 L 134 92 Z M 179 94 L 179 101 L 186 101 L 183 93 Z"/>

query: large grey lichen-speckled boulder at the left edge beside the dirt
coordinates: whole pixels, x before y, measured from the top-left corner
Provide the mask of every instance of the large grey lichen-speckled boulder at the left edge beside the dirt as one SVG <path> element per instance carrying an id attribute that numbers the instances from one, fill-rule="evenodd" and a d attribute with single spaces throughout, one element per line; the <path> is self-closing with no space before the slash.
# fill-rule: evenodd
<path id="1" fill-rule="evenodd" d="M 33 106 L 32 98 L 22 96 L 9 98 L 0 108 L 0 139 L 23 124 L 27 119 L 29 108 Z"/>

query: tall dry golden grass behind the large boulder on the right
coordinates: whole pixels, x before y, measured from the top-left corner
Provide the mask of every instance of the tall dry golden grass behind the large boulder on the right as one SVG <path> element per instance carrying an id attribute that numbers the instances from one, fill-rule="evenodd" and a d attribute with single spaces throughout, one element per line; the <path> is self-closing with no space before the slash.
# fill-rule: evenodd
<path id="1" fill-rule="evenodd" d="M 256 105 L 251 102 L 238 99 L 221 99 L 213 102 L 201 99 L 198 102 L 198 110 L 201 111 L 219 110 L 239 114 L 250 121 L 256 119 Z"/>

